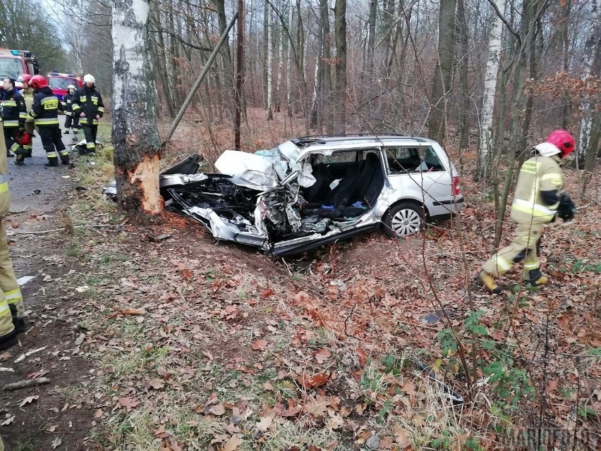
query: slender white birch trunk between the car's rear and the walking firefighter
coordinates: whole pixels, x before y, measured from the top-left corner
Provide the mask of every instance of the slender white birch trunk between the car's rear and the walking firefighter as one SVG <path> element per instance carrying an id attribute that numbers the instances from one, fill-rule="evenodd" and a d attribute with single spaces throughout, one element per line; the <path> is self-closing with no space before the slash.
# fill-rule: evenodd
<path id="1" fill-rule="evenodd" d="M 490 0 L 496 4 L 504 0 Z M 504 9 L 506 8 L 506 4 Z M 501 39 L 503 20 L 491 8 L 492 28 L 488 41 L 488 60 L 484 78 L 484 94 L 482 96 L 482 111 L 480 113 L 480 147 L 478 149 L 478 175 L 486 178 L 489 172 L 490 149 L 492 148 L 492 112 L 494 111 L 494 93 L 497 89 L 497 75 L 499 73 L 499 56 L 501 52 Z"/>

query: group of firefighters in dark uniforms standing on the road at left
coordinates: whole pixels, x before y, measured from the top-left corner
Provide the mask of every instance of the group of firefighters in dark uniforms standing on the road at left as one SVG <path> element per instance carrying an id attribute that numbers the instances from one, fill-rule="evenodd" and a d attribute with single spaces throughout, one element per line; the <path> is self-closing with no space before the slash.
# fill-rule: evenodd
<path id="1" fill-rule="evenodd" d="M 23 84 L 21 91 L 16 88 L 16 81 Z M 66 115 L 64 133 L 72 130 L 78 135 L 81 128 L 85 137 L 83 153 L 95 153 L 98 121 L 104 114 L 104 104 L 92 75 L 84 76 L 83 87 L 79 89 L 69 85 L 63 101 L 54 95 L 42 75 L 22 74 L 18 80 L 6 78 L 3 83 L 1 121 L 6 156 L 14 157 L 16 166 L 23 166 L 25 159 L 32 156 L 32 138 L 36 133 L 46 151 L 46 166 L 59 166 L 59 160 L 62 164 L 70 163 L 69 152 L 63 144 L 59 112 Z M 73 141 L 77 140 L 73 137 Z"/>

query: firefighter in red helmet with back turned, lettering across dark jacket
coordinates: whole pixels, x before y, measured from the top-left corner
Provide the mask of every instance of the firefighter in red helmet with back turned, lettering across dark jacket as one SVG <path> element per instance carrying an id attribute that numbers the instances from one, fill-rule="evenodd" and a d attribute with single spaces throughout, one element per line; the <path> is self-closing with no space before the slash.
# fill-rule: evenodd
<path id="1" fill-rule="evenodd" d="M 68 164 L 69 152 L 63 144 L 59 125 L 59 110 L 64 111 L 65 107 L 42 75 L 34 75 L 30 84 L 35 89 L 30 116 L 39 130 L 42 146 L 48 157 L 46 166 L 59 166 L 59 156 L 63 164 Z"/>

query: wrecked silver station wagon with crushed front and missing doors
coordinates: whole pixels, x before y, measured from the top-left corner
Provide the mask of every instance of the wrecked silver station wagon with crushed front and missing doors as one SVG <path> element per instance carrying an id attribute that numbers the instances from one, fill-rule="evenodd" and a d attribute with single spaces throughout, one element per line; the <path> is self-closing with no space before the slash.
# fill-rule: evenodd
<path id="1" fill-rule="evenodd" d="M 401 135 L 310 136 L 255 154 L 226 150 L 219 174 L 189 156 L 160 175 L 166 206 L 219 240 L 298 254 L 383 226 L 417 233 L 463 206 L 459 174 L 432 140 Z"/>

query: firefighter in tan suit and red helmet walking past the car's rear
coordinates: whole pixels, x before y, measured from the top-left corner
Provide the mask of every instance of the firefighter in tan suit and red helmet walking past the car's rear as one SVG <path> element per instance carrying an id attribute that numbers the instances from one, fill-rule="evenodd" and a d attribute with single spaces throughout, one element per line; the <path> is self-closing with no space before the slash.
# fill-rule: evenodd
<path id="1" fill-rule="evenodd" d="M 523 279 L 530 285 L 544 285 L 547 277 L 540 272 L 540 240 L 545 224 L 555 216 L 570 221 L 576 205 L 562 192 L 564 175 L 561 166 L 573 152 L 576 142 L 566 130 L 554 130 L 545 142 L 535 146 L 534 156 L 520 168 L 511 219 L 516 223 L 514 240 L 485 261 L 477 278 L 495 294 L 502 292 L 494 278 L 524 261 Z"/>

